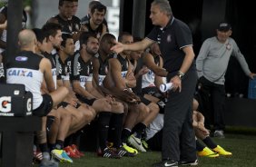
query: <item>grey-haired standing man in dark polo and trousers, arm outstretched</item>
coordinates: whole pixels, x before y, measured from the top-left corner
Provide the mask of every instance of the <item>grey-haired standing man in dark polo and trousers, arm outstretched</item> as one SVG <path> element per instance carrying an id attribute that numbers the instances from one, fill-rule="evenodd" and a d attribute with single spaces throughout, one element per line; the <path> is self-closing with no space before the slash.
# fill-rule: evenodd
<path id="1" fill-rule="evenodd" d="M 143 41 L 113 46 L 113 51 L 142 50 L 157 41 L 163 58 L 163 67 L 156 74 L 173 83 L 164 112 L 162 134 L 162 162 L 154 166 L 196 165 L 197 157 L 192 128 L 192 98 L 197 75 L 193 63 L 192 34 L 187 25 L 172 15 L 167 0 L 154 0 L 151 5 L 153 28 Z"/>

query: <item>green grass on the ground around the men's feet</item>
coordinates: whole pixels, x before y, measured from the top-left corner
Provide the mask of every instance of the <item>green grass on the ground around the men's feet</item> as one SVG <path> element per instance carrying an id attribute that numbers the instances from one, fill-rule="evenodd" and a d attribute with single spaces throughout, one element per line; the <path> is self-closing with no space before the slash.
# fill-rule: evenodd
<path id="1" fill-rule="evenodd" d="M 199 158 L 199 167 L 256 167 L 256 136 L 227 134 L 225 139 L 213 139 L 227 151 L 231 157 Z M 123 157 L 121 160 L 99 158 L 94 152 L 85 152 L 81 159 L 74 159 L 73 164 L 61 163 L 60 167 L 150 167 L 161 160 L 161 152 L 139 153 L 134 158 Z"/>

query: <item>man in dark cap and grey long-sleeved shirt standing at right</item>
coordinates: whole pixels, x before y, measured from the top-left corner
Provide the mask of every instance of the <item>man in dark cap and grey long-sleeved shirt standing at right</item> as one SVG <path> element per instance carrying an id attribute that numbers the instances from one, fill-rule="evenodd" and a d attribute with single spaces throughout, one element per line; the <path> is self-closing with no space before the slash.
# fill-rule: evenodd
<path id="1" fill-rule="evenodd" d="M 206 39 L 201 47 L 200 53 L 196 59 L 196 68 L 199 76 L 199 93 L 202 96 L 202 108 L 205 110 L 207 104 L 210 104 L 210 110 L 202 111 L 205 115 L 206 123 L 209 123 L 210 115 L 213 115 L 213 128 L 215 137 L 224 137 L 223 106 L 225 101 L 225 74 L 231 55 L 235 56 L 241 64 L 243 72 L 251 79 L 252 74 L 243 54 L 241 54 L 236 42 L 231 36 L 231 25 L 222 22 L 217 28 L 217 36 Z M 210 109 L 210 108 L 208 108 Z"/>

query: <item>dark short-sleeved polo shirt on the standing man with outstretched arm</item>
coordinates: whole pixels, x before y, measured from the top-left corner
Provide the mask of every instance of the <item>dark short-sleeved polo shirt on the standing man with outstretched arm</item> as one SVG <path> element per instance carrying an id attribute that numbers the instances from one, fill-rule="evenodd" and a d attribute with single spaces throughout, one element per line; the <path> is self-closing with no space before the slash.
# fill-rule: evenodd
<path id="1" fill-rule="evenodd" d="M 171 73 L 179 71 L 185 57 L 182 48 L 192 46 L 192 33 L 188 25 L 172 17 L 166 27 L 154 26 L 147 38 L 158 42 L 163 68 Z"/>

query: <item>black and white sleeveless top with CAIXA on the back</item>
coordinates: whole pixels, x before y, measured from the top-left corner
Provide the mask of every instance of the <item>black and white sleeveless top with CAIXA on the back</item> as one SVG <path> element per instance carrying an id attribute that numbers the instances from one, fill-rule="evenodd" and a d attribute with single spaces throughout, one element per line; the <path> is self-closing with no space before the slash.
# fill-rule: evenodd
<path id="1" fill-rule="evenodd" d="M 22 51 L 10 57 L 6 64 L 6 83 L 25 84 L 25 91 L 33 93 L 33 110 L 43 102 L 41 84 L 44 74 L 39 69 L 42 56 L 29 51 Z"/>

